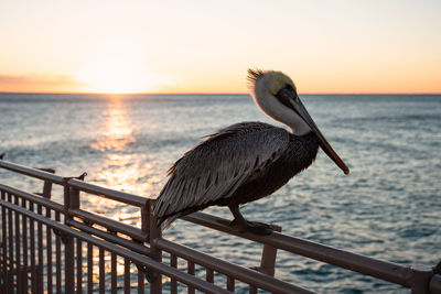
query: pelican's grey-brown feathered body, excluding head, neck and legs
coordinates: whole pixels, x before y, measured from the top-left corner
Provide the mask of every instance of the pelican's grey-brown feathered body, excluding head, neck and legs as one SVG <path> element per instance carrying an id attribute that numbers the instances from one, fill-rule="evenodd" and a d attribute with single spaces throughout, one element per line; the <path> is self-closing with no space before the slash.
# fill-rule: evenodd
<path id="1" fill-rule="evenodd" d="M 294 135 L 262 122 L 229 126 L 186 152 L 169 170 L 154 213 L 160 222 L 212 205 L 239 205 L 272 194 L 315 159 L 311 132 Z"/>

